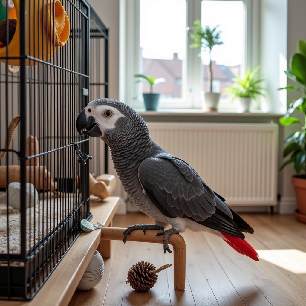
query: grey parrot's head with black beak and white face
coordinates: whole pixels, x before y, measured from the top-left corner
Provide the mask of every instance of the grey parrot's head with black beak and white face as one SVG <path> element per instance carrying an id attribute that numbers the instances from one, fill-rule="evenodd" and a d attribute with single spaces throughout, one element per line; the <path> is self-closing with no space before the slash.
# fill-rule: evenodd
<path id="1" fill-rule="evenodd" d="M 81 135 L 101 137 L 107 144 L 127 144 L 137 134 L 149 135 L 147 125 L 130 106 L 111 99 L 97 99 L 88 103 L 76 119 Z"/>

